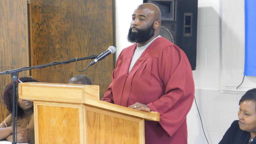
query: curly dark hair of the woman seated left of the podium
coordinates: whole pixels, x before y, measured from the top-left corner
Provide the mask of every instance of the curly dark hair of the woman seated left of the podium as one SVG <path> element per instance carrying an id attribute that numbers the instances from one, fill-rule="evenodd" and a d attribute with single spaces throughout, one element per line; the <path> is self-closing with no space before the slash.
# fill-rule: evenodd
<path id="1" fill-rule="evenodd" d="M 38 82 L 37 80 L 31 77 L 20 77 L 18 78 L 22 82 Z M 16 80 L 15 84 L 18 85 L 19 81 Z M 6 108 L 11 113 L 12 112 L 12 82 L 6 85 L 3 92 L 3 101 L 6 105 Z M 17 104 L 17 116 L 22 116 L 24 114 L 23 110 Z"/>

